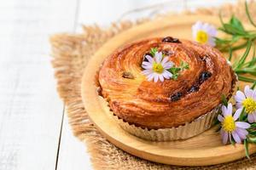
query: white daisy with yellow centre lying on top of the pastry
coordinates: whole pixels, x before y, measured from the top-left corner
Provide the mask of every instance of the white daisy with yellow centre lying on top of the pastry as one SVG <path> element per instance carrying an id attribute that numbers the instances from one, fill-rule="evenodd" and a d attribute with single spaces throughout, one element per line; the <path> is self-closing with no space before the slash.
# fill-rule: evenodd
<path id="1" fill-rule="evenodd" d="M 164 79 L 172 78 L 172 73 L 167 71 L 172 68 L 174 63 L 169 61 L 168 57 L 163 58 L 163 54 L 161 52 L 156 52 L 154 54 L 154 58 L 149 55 L 145 56 L 148 61 L 143 61 L 143 69 L 145 69 L 142 73 L 148 79 L 148 81 L 157 82 L 160 79 L 160 82 L 164 82 Z"/>

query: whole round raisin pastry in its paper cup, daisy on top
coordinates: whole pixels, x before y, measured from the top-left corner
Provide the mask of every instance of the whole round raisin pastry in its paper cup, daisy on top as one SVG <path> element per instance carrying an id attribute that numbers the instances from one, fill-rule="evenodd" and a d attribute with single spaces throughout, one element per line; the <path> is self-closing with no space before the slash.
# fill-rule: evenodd
<path id="1" fill-rule="evenodd" d="M 183 63 L 185 69 L 179 67 Z M 156 37 L 114 51 L 103 62 L 98 82 L 121 127 L 162 141 L 187 139 L 211 127 L 236 76 L 216 48 Z"/>

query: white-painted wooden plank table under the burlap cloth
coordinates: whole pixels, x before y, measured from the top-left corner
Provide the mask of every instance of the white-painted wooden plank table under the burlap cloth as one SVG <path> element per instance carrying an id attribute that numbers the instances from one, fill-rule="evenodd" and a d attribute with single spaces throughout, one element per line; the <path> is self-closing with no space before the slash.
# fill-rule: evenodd
<path id="1" fill-rule="evenodd" d="M 0 170 L 92 168 L 84 144 L 73 137 L 64 105 L 55 90 L 49 35 L 78 32 L 82 24 L 108 26 L 132 8 L 164 2 L 171 2 L 170 8 L 181 10 L 226 1 L 3 0 L 0 3 Z"/>

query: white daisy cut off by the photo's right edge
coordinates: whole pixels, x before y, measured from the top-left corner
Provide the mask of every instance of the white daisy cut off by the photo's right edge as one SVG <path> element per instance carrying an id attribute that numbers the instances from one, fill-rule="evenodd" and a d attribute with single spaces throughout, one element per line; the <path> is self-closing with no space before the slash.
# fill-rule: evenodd
<path id="1" fill-rule="evenodd" d="M 244 93 L 240 90 L 236 92 L 236 108 L 245 108 L 248 116 L 248 122 L 256 122 L 256 89 L 253 90 L 246 86 Z"/>

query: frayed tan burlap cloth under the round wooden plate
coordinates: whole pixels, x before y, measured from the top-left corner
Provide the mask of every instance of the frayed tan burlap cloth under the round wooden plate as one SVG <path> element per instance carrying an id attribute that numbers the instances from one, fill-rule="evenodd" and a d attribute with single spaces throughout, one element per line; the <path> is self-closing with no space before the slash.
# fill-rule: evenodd
<path id="1" fill-rule="evenodd" d="M 243 2 L 236 5 L 226 4 L 219 8 L 201 8 L 193 13 L 186 11 L 183 14 L 218 15 L 219 9 L 222 9 L 224 16 L 236 14 L 241 20 L 247 21 Z M 253 19 L 256 19 L 256 2 L 250 3 L 250 9 Z M 122 21 L 113 23 L 108 29 L 84 26 L 82 34 L 58 34 L 50 38 L 57 89 L 61 99 L 65 102 L 67 116 L 74 135 L 87 144 L 93 167 L 95 169 L 256 169 L 255 154 L 251 156 L 250 161 L 244 158 L 208 167 L 175 167 L 131 156 L 102 138 L 102 135 L 88 119 L 82 103 L 80 84 L 84 68 L 90 56 L 109 38 L 143 22 L 145 20 L 136 23 Z"/>

